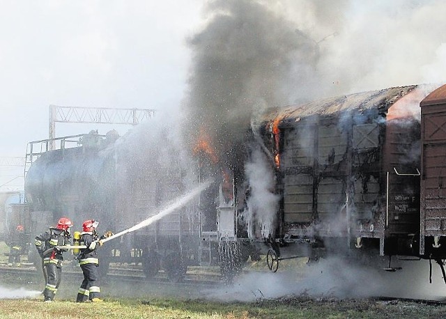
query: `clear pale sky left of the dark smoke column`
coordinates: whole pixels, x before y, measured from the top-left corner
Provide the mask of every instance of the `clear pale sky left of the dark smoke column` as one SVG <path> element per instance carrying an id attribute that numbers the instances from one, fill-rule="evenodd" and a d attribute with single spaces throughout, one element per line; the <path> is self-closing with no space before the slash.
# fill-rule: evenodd
<path id="1" fill-rule="evenodd" d="M 49 104 L 178 106 L 199 10 L 194 0 L 1 0 L 1 155 L 24 156 L 28 141 L 48 137 Z M 108 129 L 58 123 L 56 135 L 91 127 Z"/>

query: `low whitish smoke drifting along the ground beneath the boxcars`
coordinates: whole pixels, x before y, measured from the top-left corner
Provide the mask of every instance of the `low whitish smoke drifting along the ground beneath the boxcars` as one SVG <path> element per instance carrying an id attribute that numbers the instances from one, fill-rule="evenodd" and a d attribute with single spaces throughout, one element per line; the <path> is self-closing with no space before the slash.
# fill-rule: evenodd
<path id="1" fill-rule="evenodd" d="M 394 265 L 394 264 L 392 264 Z M 245 302 L 280 297 L 406 297 L 442 299 L 446 293 L 440 269 L 432 265 L 429 283 L 429 261 L 399 262 L 401 270 L 386 272 L 378 267 L 359 267 L 341 258 L 322 259 L 311 267 L 270 272 L 249 272 L 231 286 L 206 291 L 210 299 Z"/>

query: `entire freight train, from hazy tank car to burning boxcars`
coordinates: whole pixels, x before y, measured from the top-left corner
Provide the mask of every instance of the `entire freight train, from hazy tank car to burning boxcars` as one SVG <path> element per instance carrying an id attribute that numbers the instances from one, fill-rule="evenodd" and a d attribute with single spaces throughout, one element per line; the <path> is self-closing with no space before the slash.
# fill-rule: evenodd
<path id="1" fill-rule="evenodd" d="M 157 143 L 150 130 L 84 134 L 73 148 L 59 138 L 26 175 L 33 232 L 62 216 L 121 231 L 212 177 L 196 201 L 107 243 L 105 268 L 141 263 L 147 277 L 162 269 L 177 281 L 188 265 L 232 277 L 261 255 L 273 272 L 286 258 L 330 255 L 394 271 L 392 256 L 405 256 L 436 261 L 446 278 L 446 86 L 269 109 L 254 122 L 224 161 L 183 153 L 165 132 Z"/>

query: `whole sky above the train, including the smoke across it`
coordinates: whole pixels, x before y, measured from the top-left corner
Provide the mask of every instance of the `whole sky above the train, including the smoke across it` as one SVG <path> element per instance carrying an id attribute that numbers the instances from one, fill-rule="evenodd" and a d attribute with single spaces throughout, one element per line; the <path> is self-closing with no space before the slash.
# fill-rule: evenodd
<path id="1" fill-rule="evenodd" d="M 233 119 L 229 104 L 252 111 L 446 77 L 441 0 L 0 0 L 0 9 L 0 157 L 47 139 L 50 104 L 192 116 L 209 106 L 207 116 Z M 56 136 L 112 128 L 131 127 L 57 123 Z M 0 186 L 14 176 L 1 168 Z"/>

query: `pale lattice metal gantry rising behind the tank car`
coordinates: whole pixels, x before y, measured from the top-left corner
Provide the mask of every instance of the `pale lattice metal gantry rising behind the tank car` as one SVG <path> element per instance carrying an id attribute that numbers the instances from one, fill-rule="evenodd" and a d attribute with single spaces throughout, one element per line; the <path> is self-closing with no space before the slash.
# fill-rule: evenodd
<path id="1" fill-rule="evenodd" d="M 155 109 L 114 109 L 111 107 L 63 107 L 49 105 L 49 139 L 56 137 L 56 123 L 97 123 L 137 125 L 152 118 Z M 54 144 L 49 145 L 54 149 Z"/>

